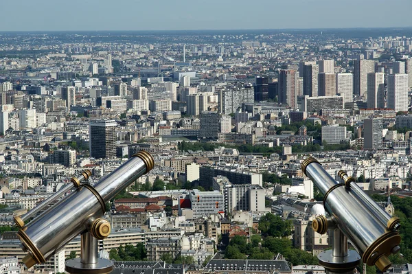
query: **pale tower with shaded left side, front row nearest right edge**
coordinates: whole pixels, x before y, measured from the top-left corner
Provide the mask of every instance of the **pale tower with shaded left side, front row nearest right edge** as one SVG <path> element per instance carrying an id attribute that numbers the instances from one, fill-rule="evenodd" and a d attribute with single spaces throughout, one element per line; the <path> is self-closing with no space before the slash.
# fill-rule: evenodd
<path id="1" fill-rule="evenodd" d="M 388 76 L 388 109 L 408 111 L 408 75 L 390 74 Z"/>

